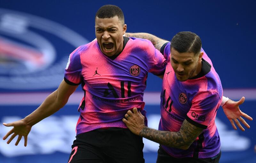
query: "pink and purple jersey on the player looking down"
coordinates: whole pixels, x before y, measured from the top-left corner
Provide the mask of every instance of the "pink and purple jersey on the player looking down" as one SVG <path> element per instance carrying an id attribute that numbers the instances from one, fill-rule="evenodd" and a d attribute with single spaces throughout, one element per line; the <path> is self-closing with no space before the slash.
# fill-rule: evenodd
<path id="1" fill-rule="evenodd" d="M 220 78 L 204 52 L 201 72 L 181 82 L 171 66 L 170 42 L 162 49 L 167 65 L 161 93 L 159 130 L 177 132 L 185 119 L 204 130 L 187 150 L 161 146 L 176 158 L 214 157 L 220 152 L 220 137 L 215 125 L 216 113 L 222 100 Z"/>

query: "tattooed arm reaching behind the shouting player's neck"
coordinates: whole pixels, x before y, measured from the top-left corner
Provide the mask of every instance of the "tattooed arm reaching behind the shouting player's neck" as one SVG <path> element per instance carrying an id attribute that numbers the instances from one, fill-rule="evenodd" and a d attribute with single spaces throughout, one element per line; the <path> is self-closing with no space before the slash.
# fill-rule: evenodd
<path id="1" fill-rule="evenodd" d="M 169 42 L 169 41 L 160 39 L 160 38 L 154 36 L 153 34 L 149 34 L 149 33 L 125 33 L 125 36 L 147 39 L 147 40 L 151 41 L 152 44 L 154 45 L 154 47 L 159 51 L 160 51 L 161 47 L 164 45 L 164 43 Z"/>

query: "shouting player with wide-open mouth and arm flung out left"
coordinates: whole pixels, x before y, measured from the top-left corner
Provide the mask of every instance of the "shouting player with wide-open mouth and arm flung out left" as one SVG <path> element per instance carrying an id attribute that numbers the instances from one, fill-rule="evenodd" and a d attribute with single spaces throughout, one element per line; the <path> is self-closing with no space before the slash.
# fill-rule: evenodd
<path id="1" fill-rule="evenodd" d="M 97 39 L 70 54 L 64 80 L 33 113 L 4 123 L 14 128 L 3 139 L 12 134 L 9 144 L 18 135 L 18 145 L 24 136 L 26 146 L 31 127 L 63 107 L 81 84 L 84 97 L 68 163 L 144 162 L 142 137 L 127 129 L 122 119 L 133 107 L 146 115 L 143 93 L 147 74 L 164 74 L 166 60 L 150 41 L 123 37 L 126 28 L 119 7 L 102 6 L 95 16 Z"/>

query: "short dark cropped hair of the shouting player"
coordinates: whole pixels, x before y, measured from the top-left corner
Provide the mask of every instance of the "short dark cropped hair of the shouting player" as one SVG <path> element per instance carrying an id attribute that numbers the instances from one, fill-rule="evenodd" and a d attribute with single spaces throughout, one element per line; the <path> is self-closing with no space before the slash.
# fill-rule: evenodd
<path id="1" fill-rule="evenodd" d="M 117 16 L 119 20 L 124 24 L 124 13 L 123 11 L 116 5 L 104 5 L 100 7 L 100 9 L 96 12 L 96 17 L 104 19 L 104 18 L 113 18 Z"/>

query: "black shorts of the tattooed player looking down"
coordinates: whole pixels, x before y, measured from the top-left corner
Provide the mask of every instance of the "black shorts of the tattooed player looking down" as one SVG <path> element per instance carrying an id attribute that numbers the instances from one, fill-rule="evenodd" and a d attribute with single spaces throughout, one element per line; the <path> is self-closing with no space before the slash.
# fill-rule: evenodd
<path id="1" fill-rule="evenodd" d="M 219 163 L 220 160 L 220 155 L 217 154 L 213 158 L 207 158 L 207 159 L 197 159 L 197 158 L 192 158 L 192 157 L 187 157 L 187 158 L 175 158 L 169 155 L 167 152 L 164 151 L 164 149 L 159 146 L 159 149 L 157 151 L 157 160 L 156 163 Z"/>

